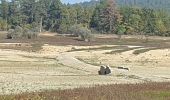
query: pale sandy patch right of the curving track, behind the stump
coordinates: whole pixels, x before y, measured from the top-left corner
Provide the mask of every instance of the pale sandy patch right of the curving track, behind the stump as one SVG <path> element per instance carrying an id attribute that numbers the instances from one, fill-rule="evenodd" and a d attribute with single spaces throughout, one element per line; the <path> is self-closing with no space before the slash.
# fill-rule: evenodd
<path id="1" fill-rule="evenodd" d="M 130 71 L 123 74 L 135 75 L 147 81 L 170 81 L 170 49 L 151 50 L 139 55 L 134 55 L 134 50 L 121 54 L 105 54 L 108 51 L 81 51 L 79 53 L 83 55 L 77 57 L 85 60 L 97 59 L 96 63 L 129 68 Z"/>

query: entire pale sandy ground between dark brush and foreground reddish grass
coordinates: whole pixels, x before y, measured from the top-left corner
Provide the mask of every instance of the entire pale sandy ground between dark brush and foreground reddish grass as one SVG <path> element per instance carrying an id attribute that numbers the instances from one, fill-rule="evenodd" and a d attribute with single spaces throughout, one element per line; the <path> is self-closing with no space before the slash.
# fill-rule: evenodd
<path id="1" fill-rule="evenodd" d="M 78 46 L 74 48 L 97 47 L 102 46 Z M 169 49 L 152 50 L 139 55 L 132 54 L 134 50 L 121 54 L 105 54 L 111 50 L 67 52 L 72 48 L 72 46 L 45 44 L 40 51 L 34 53 L 0 49 L 0 94 L 68 89 L 101 84 L 170 81 Z M 134 48 L 134 46 L 129 46 L 129 48 Z M 120 70 L 113 67 L 112 74 L 99 76 L 100 66 L 88 64 L 77 58 L 92 60 L 93 63 L 123 66 L 130 70 Z"/>

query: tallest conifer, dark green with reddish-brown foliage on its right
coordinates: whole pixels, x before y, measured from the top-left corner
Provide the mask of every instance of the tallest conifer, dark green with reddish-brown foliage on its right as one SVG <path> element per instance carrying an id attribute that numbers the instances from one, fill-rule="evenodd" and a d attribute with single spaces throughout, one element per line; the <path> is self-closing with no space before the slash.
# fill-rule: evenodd
<path id="1" fill-rule="evenodd" d="M 115 0 L 101 0 L 92 15 L 91 27 L 100 32 L 113 32 L 120 16 L 115 8 Z"/>

